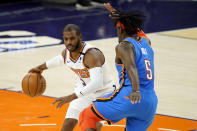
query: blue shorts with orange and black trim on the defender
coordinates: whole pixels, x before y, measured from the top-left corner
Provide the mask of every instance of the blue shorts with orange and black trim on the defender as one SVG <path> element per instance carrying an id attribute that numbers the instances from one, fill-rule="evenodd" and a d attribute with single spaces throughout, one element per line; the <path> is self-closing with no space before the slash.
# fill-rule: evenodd
<path id="1" fill-rule="evenodd" d="M 113 123 L 127 118 L 127 131 L 146 131 L 154 120 L 157 108 L 157 96 L 154 91 L 141 90 L 141 102 L 132 104 L 130 99 L 124 97 L 131 93 L 131 86 L 98 98 L 94 102 L 97 116 Z"/>

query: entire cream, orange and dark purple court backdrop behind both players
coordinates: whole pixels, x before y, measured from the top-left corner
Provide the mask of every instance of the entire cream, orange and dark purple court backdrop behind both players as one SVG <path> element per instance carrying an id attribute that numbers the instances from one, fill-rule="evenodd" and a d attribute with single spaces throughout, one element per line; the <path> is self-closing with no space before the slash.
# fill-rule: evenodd
<path id="1" fill-rule="evenodd" d="M 62 30 L 77 24 L 83 40 L 100 48 L 118 83 L 114 66 L 116 30 L 103 7 L 105 0 L 0 1 L 0 131 L 58 131 L 66 109 L 51 106 L 55 97 L 73 91 L 67 67 L 44 72 L 43 96 L 21 92 L 28 70 L 58 55 Z M 159 104 L 149 131 L 197 130 L 197 1 L 111 0 L 120 10 L 145 12 L 144 31 L 155 50 L 155 90 Z M 125 121 L 102 131 L 123 131 Z M 79 127 L 76 127 L 76 131 Z"/>

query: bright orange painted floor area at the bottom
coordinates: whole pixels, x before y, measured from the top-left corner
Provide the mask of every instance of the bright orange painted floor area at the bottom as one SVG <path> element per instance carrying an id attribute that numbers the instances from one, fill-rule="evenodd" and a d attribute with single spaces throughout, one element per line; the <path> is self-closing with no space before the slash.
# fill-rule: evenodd
<path id="1" fill-rule="evenodd" d="M 23 93 L 0 90 L 0 131 L 60 131 L 68 104 L 52 106 L 55 98 L 30 98 Z M 124 131 L 125 119 L 105 125 L 102 131 Z M 80 131 L 79 126 L 75 131 Z M 157 114 L 148 131 L 197 131 L 197 121 Z"/>

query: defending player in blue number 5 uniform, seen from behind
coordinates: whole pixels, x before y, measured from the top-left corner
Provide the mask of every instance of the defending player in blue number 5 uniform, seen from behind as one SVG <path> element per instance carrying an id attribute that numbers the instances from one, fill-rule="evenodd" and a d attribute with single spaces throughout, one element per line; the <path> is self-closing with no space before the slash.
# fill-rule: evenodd
<path id="1" fill-rule="evenodd" d="M 111 11 L 109 4 L 105 5 Z M 80 113 L 82 131 L 96 131 L 96 123 L 109 124 L 126 118 L 127 131 L 146 131 L 154 120 L 157 96 L 154 91 L 154 52 L 147 37 L 140 37 L 144 15 L 140 12 L 111 11 L 119 44 L 116 68 L 120 87 L 98 98 Z"/>

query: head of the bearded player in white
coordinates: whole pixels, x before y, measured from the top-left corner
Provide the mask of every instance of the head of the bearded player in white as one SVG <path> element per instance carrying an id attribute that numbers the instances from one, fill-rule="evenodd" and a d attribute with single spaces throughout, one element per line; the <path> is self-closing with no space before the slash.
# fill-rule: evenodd
<path id="1" fill-rule="evenodd" d="M 66 48 L 70 51 L 76 51 L 82 41 L 80 28 L 75 24 L 68 24 L 63 30 L 63 39 Z"/>

